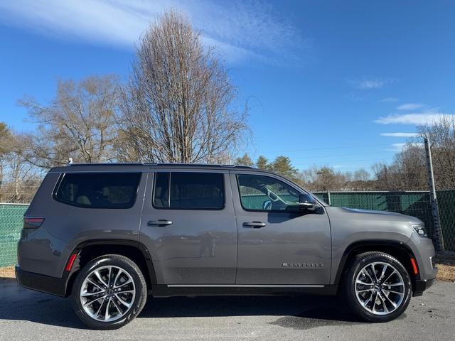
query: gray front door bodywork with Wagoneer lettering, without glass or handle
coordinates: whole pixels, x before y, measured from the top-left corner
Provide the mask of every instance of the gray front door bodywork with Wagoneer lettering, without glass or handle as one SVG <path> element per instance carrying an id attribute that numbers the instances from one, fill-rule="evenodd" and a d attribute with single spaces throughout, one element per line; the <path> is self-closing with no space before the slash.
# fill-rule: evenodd
<path id="1" fill-rule="evenodd" d="M 331 271 L 331 227 L 321 207 L 317 213 L 243 210 L 237 174 L 230 180 L 237 219 L 237 284 L 326 285 Z M 251 173 L 249 173 L 251 174 Z M 268 175 L 257 172 L 257 175 Z M 288 185 L 284 178 L 276 176 Z M 260 228 L 245 222 L 264 222 Z"/>

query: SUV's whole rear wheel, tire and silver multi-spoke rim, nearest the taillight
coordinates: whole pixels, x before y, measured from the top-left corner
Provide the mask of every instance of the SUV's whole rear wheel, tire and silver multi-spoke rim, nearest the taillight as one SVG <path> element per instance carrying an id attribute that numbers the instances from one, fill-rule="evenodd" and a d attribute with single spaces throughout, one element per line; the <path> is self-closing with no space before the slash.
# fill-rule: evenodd
<path id="1" fill-rule="evenodd" d="M 90 261 L 73 285 L 73 307 L 85 325 L 116 329 L 133 320 L 144 308 L 146 282 L 139 267 L 118 254 Z"/>

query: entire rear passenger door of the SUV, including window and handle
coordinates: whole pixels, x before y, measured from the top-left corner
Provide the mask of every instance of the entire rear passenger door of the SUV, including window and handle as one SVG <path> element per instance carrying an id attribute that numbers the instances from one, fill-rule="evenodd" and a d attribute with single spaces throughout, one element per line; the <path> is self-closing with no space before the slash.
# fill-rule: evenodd
<path id="1" fill-rule="evenodd" d="M 149 174 L 140 241 L 159 284 L 232 284 L 237 232 L 228 171 Z"/>

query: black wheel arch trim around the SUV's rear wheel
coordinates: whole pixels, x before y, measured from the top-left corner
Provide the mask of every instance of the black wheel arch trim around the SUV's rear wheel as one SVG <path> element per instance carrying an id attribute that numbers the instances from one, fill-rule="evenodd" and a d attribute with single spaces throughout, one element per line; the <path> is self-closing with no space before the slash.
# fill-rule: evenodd
<path id="1" fill-rule="evenodd" d="M 104 254 L 120 254 L 134 261 L 146 279 L 147 288 L 156 285 L 156 275 L 149 250 L 141 242 L 125 239 L 91 239 L 77 245 L 71 252 L 76 254 L 74 265 L 65 271 L 67 278 L 65 296 L 71 293 L 73 283 L 80 269 L 89 261 Z"/>

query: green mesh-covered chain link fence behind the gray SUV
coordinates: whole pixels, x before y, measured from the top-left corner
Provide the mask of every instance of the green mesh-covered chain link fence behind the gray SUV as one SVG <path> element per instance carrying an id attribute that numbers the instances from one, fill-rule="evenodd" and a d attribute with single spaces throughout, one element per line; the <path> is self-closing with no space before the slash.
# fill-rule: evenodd
<path id="1" fill-rule="evenodd" d="M 434 238 L 432 207 L 428 192 L 315 192 L 331 206 L 398 212 L 419 218 Z M 455 251 L 455 190 L 437 192 L 442 234 L 446 250 Z M 263 197 L 251 198 L 262 200 Z M 0 204 L 0 267 L 16 264 L 17 242 L 21 236 L 26 204 Z"/>

